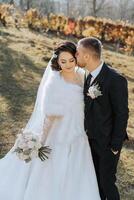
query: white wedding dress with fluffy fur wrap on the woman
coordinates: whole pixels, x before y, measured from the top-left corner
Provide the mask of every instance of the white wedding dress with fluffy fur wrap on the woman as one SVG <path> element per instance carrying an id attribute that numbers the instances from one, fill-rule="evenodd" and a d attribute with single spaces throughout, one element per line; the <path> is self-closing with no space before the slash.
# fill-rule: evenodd
<path id="1" fill-rule="evenodd" d="M 0 200 L 100 200 L 84 131 L 83 87 L 55 72 L 47 88 L 46 113 L 63 116 L 47 136 L 52 152 L 44 162 L 25 163 L 12 148 L 0 160 Z"/>

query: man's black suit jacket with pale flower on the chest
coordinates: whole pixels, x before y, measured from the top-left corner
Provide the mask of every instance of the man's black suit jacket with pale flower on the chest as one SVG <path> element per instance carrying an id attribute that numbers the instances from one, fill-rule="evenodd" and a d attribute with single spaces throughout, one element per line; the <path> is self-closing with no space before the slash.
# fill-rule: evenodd
<path id="1" fill-rule="evenodd" d="M 120 150 L 125 139 L 128 121 L 128 88 L 125 77 L 104 63 L 91 85 L 99 84 L 102 96 L 87 96 L 84 85 L 85 131 L 89 139 L 96 139 L 102 147 Z"/>

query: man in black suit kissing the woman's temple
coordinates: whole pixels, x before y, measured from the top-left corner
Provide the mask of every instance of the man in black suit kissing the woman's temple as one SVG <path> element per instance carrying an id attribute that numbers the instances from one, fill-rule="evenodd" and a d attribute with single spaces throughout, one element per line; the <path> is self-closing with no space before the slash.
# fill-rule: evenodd
<path id="1" fill-rule="evenodd" d="M 84 84 L 85 131 L 89 138 L 102 200 L 119 200 L 116 170 L 128 120 L 126 79 L 102 59 L 96 38 L 78 42 L 77 62 L 86 69 Z"/>

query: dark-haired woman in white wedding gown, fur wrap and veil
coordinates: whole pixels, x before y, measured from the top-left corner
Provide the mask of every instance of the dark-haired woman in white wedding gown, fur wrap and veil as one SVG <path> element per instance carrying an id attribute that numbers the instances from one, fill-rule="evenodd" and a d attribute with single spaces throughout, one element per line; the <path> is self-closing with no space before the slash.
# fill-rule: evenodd
<path id="1" fill-rule="evenodd" d="M 84 71 L 75 54 L 71 42 L 54 49 L 24 129 L 52 149 L 49 158 L 25 163 L 13 153 L 14 144 L 0 160 L 1 200 L 100 200 L 84 131 Z"/>

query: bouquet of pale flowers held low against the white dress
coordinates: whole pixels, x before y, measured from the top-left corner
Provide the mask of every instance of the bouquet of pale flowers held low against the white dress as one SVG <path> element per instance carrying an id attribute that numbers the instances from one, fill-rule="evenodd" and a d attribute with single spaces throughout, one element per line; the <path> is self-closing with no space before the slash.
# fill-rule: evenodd
<path id="1" fill-rule="evenodd" d="M 37 157 L 41 161 L 48 159 L 51 149 L 49 146 L 43 146 L 37 135 L 24 133 L 22 129 L 21 133 L 17 135 L 15 150 L 13 152 L 16 153 L 19 159 L 27 163 Z"/>

